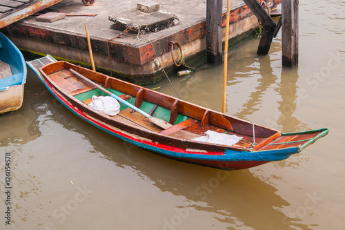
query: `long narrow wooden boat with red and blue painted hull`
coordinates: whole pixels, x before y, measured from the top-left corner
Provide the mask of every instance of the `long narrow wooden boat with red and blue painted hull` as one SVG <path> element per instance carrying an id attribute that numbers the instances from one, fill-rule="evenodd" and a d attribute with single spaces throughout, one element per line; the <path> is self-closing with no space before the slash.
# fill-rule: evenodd
<path id="1" fill-rule="evenodd" d="M 219 169 L 246 169 L 284 160 L 328 133 L 327 128 L 282 133 L 66 61 L 47 64 L 49 61 L 43 57 L 28 64 L 72 113 L 121 140 L 175 160 Z M 79 75 L 91 79 L 93 84 Z M 88 106 L 92 96 L 105 95 L 94 82 L 121 98 L 117 115 L 105 115 Z M 164 120 L 168 126 L 157 126 L 122 101 Z M 230 146 L 194 140 L 206 131 L 243 138 Z"/>

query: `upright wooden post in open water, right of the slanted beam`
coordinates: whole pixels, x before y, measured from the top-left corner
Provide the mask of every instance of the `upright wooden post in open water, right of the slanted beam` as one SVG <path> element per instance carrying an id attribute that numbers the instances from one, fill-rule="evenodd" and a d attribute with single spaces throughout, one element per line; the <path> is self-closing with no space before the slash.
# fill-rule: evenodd
<path id="1" fill-rule="evenodd" d="M 282 63 L 298 64 L 298 0 L 282 0 Z"/>

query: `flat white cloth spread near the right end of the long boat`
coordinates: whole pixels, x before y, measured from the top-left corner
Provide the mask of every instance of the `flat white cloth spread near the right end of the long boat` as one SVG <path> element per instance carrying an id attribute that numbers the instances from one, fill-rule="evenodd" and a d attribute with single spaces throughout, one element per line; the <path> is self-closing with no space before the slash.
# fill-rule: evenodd
<path id="1" fill-rule="evenodd" d="M 237 135 L 228 135 L 226 133 L 217 133 L 215 131 L 208 130 L 204 133 L 204 136 L 194 138 L 193 140 L 231 146 L 239 142 L 239 140 L 242 140 L 242 138 L 243 137 L 238 137 Z"/>

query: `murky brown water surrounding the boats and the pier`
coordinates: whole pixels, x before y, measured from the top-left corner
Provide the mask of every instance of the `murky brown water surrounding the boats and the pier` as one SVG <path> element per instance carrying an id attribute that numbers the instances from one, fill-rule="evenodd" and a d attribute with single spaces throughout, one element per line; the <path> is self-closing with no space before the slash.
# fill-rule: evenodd
<path id="1" fill-rule="evenodd" d="M 227 112 L 284 132 L 330 128 L 302 153 L 219 171 L 134 148 L 83 122 L 28 73 L 23 107 L 0 117 L 1 229 L 343 229 L 345 1 L 300 1 L 299 67 L 280 36 L 232 46 Z M 171 77 L 183 99 L 221 111 L 222 66 Z M 175 95 L 167 81 L 149 88 Z M 5 226 L 5 153 L 12 220 Z"/>

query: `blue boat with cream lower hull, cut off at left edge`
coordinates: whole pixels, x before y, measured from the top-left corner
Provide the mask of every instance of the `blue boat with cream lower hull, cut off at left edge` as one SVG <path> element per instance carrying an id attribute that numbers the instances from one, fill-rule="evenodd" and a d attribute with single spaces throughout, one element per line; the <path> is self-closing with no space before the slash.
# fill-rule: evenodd
<path id="1" fill-rule="evenodd" d="M 0 114 L 23 104 L 26 63 L 19 49 L 0 32 Z"/>

